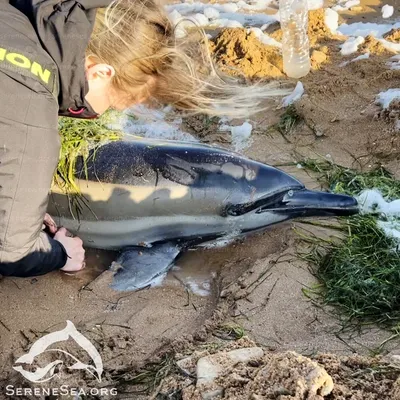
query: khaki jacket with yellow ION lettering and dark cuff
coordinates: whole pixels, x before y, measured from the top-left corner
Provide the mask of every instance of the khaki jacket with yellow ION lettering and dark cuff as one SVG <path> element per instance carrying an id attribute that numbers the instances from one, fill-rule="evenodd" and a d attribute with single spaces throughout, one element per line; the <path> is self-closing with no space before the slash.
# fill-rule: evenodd
<path id="1" fill-rule="evenodd" d="M 85 101 L 85 50 L 110 0 L 0 0 L 0 274 L 62 268 L 41 230 L 60 138 L 58 115 L 96 117 Z"/>

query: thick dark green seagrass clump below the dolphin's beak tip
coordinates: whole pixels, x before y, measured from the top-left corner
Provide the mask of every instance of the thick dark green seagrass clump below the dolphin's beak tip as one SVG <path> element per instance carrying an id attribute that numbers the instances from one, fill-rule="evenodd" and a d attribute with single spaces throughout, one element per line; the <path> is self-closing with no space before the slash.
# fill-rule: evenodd
<path id="1" fill-rule="evenodd" d="M 303 257 L 318 268 L 323 301 L 339 307 L 351 321 L 390 327 L 400 320 L 400 254 L 394 239 L 373 216 L 349 218 L 351 236 L 329 246 L 320 242 Z"/>

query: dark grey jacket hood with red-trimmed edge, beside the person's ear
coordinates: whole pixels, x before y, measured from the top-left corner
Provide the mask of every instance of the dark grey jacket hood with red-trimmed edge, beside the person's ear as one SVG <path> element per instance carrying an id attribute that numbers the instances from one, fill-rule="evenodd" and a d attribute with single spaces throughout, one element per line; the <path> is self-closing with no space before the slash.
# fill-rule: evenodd
<path id="1" fill-rule="evenodd" d="M 59 71 L 59 115 L 96 118 L 85 100 L 89 90 L 85 52 L 93 31 L 96 9 L 112 0 L 11 0 L 30 19 L 40 43 Z"/>

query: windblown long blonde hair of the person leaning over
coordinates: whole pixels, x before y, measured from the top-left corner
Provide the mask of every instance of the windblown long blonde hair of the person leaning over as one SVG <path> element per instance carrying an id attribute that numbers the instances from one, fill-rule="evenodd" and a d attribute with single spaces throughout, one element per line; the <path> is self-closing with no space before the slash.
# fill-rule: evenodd
<path id="1" fill-rule="evenodd" d="M 114 67 L 112 85 L 131 104 L 248 117 L 285 91 L 277 82 L 239 84 L 214 67 L 203 30 L 177 39 L 157 0 L 115 0 L 99 9 L 87 56 Z M 199 38 L 200 34 L 200 38 Z"/>

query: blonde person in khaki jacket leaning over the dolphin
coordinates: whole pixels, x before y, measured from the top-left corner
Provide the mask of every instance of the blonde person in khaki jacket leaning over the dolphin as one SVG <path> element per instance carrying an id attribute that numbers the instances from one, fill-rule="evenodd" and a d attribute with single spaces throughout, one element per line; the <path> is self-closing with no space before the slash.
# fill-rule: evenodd
<path id="1" fill-rule="evenodd" d="M 282 94 L 221 77 L 204 33 L 179 44 L 154 0 L 0 1 L 0 21 L 2 275 L 83 267 L 81 240 L 46 215 L 58 115 L 95 118 L 146 103 L 239 118 Z"/>

